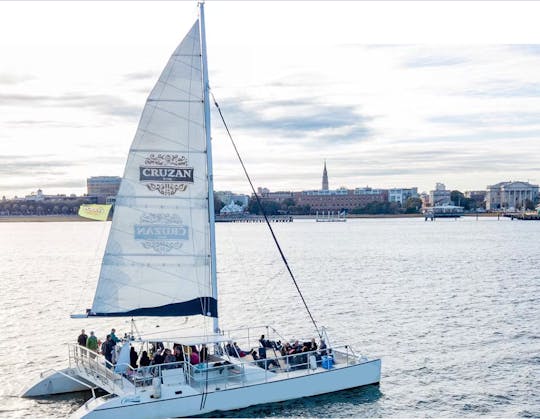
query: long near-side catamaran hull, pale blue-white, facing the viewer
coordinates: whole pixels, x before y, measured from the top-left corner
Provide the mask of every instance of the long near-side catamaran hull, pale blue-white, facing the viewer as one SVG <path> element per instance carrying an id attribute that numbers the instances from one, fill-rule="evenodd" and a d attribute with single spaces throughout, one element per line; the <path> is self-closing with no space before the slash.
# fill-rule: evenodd
<path id="1" fill-rule="evenodd" d="M 213 411 L 236 410 L 258 404 L 281 402 L 376 384 L 380 381 L 381 360 L 335 368 L 325 372 L 268 381 L 243 387 L 209 389 L 203 395 L 189 394 L 152 399 L 150 394 L 135 397 L 98 398 L 77 410 L 78 418 L 167 418 L 194 416 Z M 186 390 L 188 390 L 186 386 Z"/>

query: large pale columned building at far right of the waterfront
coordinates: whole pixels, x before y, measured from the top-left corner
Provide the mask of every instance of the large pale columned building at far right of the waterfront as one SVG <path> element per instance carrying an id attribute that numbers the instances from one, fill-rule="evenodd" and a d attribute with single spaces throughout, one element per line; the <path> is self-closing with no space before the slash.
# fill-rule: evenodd
<path id="1" fill-rule="evenodd" d="M 529 182 L 510 181 L 489 185 L 486 193 L 487 210 L 516 210 L 538 200 L 538 185 Z"/>

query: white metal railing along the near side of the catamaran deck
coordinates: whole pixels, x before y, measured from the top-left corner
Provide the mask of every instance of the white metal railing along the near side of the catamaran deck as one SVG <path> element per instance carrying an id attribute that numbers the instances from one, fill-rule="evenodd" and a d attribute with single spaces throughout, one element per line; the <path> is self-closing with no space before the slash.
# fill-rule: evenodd
<path id="1" fill-rule="evenodd" d="M 182 361 L 132 368 L 128 364 L 112 364 L 83 346 L 69 345 L 69 348 L 70 367 L 77 368 L 83 377 L 86 375 L 111 393 L 137 393 L 139 389 L 152 385 L 154 378 L 159 378 L 164 384 L 171 381 L 174 384 L 186 383 L 199 391 L 209 391 L 209 386 L 212 390 L 241 387 L 248 382 L 321 373 L 320 367 L 331 369 L 334 363 L 349 366 L 363 362 L 349 346 L 343 345 L 257 360 L 224 354 L 219 361 L 198 365 Z M 273 352 L 272 349 L 269 351 Z M 121 373 L 115 372 L 120 370 Z"/>

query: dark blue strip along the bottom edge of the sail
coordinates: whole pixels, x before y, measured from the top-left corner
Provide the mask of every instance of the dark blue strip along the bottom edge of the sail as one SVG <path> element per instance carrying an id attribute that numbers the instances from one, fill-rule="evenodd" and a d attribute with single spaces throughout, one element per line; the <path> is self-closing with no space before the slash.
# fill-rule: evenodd
<path id="1" fill-rule="evenodd" d="M 203 316 L 217 317 L 217 301 L 212 297 L 201 297 L 182 303 L 166 304 L 160 307 L 137 308 L 117 313 L 92 313 L 88 316 L 125 317 L 125 316 Z"/>

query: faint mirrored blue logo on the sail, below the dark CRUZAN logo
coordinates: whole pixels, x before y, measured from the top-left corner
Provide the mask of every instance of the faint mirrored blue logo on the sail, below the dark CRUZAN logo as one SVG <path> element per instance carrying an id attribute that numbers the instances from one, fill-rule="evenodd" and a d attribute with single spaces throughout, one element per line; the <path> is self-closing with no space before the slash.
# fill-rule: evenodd
<path id="1" fill-rule="evenodd" d="M 143 214 L 134 229 L 135 240 L 160 254 L 180 249 L 182 242 L 189 239 L 189 228 L 176 214 Z"/>

